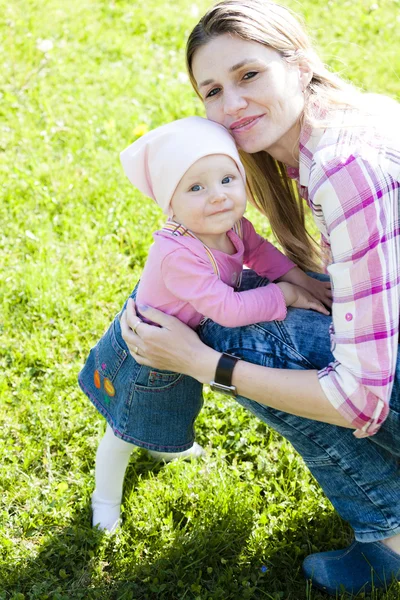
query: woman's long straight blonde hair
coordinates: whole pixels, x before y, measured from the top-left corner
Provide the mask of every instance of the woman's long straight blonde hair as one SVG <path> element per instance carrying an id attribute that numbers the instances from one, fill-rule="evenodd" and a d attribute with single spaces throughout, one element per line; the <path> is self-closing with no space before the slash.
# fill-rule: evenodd
<path id="1" fill-rule="evenodd" d="M 307 62 L 313 76 L 305 91 L 302 120 L 315 124 L 334 107 L 356 104 L 355 88 L 322 63 L 298 17 L 269 0 L 223 0 L 199 21 L 186 46 L 187 69 L 197 93 L 192 69 L 194 54 L 226 33 L 268 46 L 288 62 Z M 251 201 L 268 218 L 287 256 L 304 270 L 321 270 L 318 245 L 305 227 L 304 202 L 294 181 L 287 176 L 285 165 L 267 152 L 240 154 Z"/>

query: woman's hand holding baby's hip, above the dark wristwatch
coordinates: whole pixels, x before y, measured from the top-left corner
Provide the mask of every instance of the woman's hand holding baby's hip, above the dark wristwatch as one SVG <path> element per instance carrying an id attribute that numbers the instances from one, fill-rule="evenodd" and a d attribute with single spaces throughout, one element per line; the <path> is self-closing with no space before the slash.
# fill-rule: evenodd
<path id="1" fill-rule="evenodd" d="M 202 383 L 212 381 L 219 352 L 203 344 L 190 327 L 175 317 L 151 307 L 141 306 L 140 311 L 160 327 L 144 323 L 136 314 L 132 298 L 128 300 L 120 320 L 121 332 L 136 362 L 190 375 Z"/>

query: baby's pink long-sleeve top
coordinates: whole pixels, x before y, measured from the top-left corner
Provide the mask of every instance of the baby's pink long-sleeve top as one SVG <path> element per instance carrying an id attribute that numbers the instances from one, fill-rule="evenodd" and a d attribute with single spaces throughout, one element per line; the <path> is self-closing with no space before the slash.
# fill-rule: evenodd
<path id="1" fill-rule="evenodd" d="M 243 265 L 270 281 L 296 265 L 258 235 L 250 221 L 242 218 L 241 226 L 242 238 L 234 230 L 227 234 L 234 254 L 211 250 L 219 276 L 200 240 L 156 231 L 139 284 L 138 305 L 158 308 L 193 329 L 203 317 L 225 327 L 284 319 L 285 299 L 276 284 L 243 292 L 236 291 L 235 285 Z"/>

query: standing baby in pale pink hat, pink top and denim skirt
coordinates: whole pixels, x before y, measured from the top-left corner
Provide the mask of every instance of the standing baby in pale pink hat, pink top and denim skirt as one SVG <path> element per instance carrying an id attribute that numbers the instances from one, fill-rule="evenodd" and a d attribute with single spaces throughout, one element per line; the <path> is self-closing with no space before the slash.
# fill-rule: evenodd
<path id="1" fill-rule="evenodd" d="M 329 314 L 308 291 L 315 294 L 325 284 L 303 273 L 243 217 L 245 172 L 224 127 L 200 117 L 181 119 L 135 141 L 121 161 L 133 185 L 169 217 L 154 234 L 138 306 L 158 308 L 194 329 L 204 318 L 226 327 L 282 320 L 287 306 Z M 243 265 L 278 282 L 241 292 Z M 134 446 L 164 460 L 202 452 L 196 443 L 176 451 L 175 438 L 171 446 L 176 434 L 168 411 L 185 402 L 173 391 L 180 377 L 138 365 L 121 337 L 118 317 L 92 349 L 79 383 L 108 423 L 97 451 L 92 497 L 92 522 L 100 529 L 113 531 L 119 523 Z M 201 398 L 200 384 L 193 381 L 193 386 Z M 167 442 L 152 443 L 149 437 L 163 428 Z"/>

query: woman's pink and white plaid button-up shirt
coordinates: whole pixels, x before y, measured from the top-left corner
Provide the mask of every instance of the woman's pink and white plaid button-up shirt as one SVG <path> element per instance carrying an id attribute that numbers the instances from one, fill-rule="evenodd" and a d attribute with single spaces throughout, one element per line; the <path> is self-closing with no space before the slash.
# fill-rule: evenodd
<path id="1" fill-rule="evenodd" d="M 288 168 L 330 255 L 335 361 L 319 382 L 356 437 L 373 435 L 387 417 L 397 361 L 400 105 L 390 118 L 387 110 L 362 125 L 347 110 L 329 128 L 304 126 L 299 169 Z"/>

